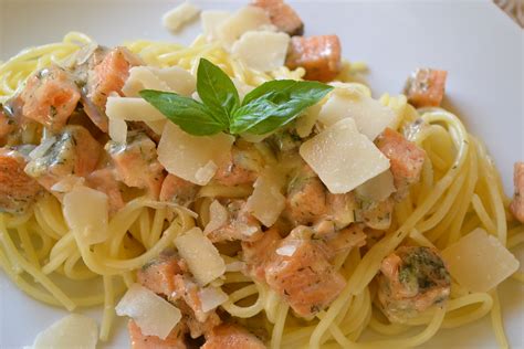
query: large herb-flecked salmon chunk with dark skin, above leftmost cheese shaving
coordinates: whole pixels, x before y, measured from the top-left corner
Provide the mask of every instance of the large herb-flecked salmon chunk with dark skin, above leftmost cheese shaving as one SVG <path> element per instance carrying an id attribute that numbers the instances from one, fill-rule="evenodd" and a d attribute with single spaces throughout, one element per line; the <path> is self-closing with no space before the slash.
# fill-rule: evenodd
<path id="1" fill-rule="evenodd" d="M 88 176 L 95 168 L 102 148 L 82 126 L 65 126 L 54 144 L 25 167 L 25 173 L 36 179 L 45 189 L 70 174 Z"/>

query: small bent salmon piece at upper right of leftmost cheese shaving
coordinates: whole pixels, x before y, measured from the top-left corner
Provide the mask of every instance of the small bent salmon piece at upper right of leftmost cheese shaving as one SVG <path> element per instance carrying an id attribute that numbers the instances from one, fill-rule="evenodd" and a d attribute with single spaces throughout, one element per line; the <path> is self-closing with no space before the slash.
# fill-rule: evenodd
<path id="1" fill-rule="evenodd" d="M 116 180 L 113 169 L 106 167 L 95 170 L 91 172 L 85 180 L 87 187 L 107 195 L 111 214 L 115 214 L 125 205 L 124 199 L 122 198 L 120 184 Z"/>

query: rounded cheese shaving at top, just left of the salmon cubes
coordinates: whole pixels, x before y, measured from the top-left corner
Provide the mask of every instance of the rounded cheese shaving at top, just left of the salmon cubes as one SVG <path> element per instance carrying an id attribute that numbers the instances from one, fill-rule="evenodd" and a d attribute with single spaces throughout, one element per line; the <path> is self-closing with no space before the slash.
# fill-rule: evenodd
<path id="1" fill-rule="evenodd" d="M 290 35 L 266 31 L 249 31 L 232 47 L 234 57 L 247 66 L 269 72 L 284 65 Z"/>

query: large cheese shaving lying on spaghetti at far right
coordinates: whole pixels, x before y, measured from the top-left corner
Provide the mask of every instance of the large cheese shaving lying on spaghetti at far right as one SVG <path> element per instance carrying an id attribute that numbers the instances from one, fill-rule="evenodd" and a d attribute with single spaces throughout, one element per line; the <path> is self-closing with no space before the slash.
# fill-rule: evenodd
<path id="1" fill-rule="evenodd" d="M 442 251 L 451 276 L 471 292 L 489 292 L 518 269 L 518 261 L 478 228 Z"/>

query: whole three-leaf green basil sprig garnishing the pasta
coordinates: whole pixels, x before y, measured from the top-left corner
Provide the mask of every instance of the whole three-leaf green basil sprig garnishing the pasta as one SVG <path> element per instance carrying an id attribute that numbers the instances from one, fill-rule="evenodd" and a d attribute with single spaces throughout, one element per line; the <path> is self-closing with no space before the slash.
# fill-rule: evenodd
<path id="1" fill-rule="evenodd" d="M 140 91 L 140 96 L 191 135 L 264 135 L 294 120 L 332 89 L 318 82 L 277 80 L 254 88 L 240 103 L 231 78 L 217 65 L 200 59 L 197 92 L 202 102 L 154 89 Z"/>

